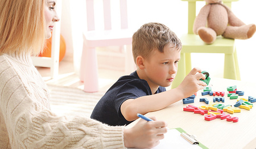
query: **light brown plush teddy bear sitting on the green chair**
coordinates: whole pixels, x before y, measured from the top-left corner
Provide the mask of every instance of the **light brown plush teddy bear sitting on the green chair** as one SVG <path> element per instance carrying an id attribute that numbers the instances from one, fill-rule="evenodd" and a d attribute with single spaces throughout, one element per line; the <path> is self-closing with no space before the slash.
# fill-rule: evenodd
<path id="1" fill-rule="evenodd" d="M 255 24 L 246 25 L 222 4 L 222 0 L 205 0 L 193 24 L 193 32 L 206 44 L 212 44 L 218 35 L 228 39 L 249 39 L 256 31 Z"/>

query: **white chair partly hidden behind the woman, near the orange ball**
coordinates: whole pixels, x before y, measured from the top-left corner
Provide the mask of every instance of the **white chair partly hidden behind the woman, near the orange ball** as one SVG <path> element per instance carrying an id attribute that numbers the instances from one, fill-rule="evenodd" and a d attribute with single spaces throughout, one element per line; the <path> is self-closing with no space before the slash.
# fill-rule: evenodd
<path id="1" fill-rule="evenodd" d="M 61 18 L 62 2 L 58 1 L 56 5 L 56 11 Z M 60 54 L 60 22 L 55 23 L 55 27 L 52 31 L 52 50 L 51 57 L 35 57 L 32 56 L 32 62 L 34 66 L 49 67 L 51 69 L 51 78 L 55 78 L 59 75 L 59 54 Z"/>

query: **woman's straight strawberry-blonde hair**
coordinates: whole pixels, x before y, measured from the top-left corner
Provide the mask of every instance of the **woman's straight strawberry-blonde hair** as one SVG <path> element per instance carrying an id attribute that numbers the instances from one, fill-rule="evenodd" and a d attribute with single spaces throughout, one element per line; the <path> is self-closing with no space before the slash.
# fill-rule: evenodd
<path id="1" fill-rule="evenodd" d="M 44 0 L 0 1 L 0 55 L 38 54 L 46 39 Z"/>

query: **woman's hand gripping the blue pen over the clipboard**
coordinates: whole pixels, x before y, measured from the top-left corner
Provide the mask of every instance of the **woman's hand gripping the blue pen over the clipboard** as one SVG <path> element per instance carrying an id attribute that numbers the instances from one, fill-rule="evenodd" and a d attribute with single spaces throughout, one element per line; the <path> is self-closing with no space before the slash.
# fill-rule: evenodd
<path id="1" fill-rule="evenodd" d="M 155 120 L 154 117 L 149 117 Z M 152 148 L 159 144 L 159 140 L 167 133 L 164 121 L 139 120 L 135 126 L 123 130 L 125 147 Z"/>

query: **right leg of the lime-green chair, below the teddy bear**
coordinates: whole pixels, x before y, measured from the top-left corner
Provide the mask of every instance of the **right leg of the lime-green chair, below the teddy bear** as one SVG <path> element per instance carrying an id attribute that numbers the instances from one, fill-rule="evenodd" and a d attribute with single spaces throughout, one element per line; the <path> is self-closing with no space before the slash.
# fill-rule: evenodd
<path id="1" fill-rule="evenodd" d="M 234 54 L 225 54 L 224 62 L 224 78 L 225 79 L 237 79 L 237 71 L 234 60 Z"/>

